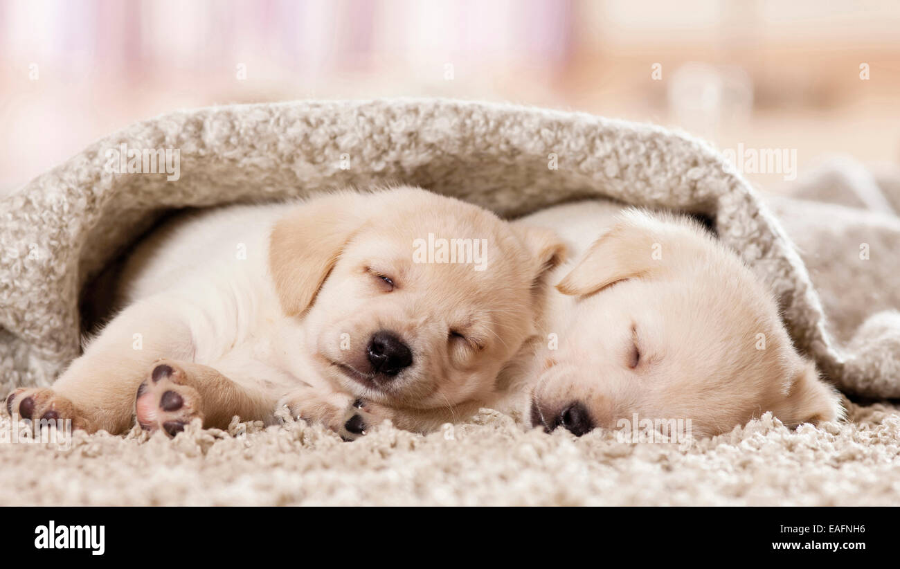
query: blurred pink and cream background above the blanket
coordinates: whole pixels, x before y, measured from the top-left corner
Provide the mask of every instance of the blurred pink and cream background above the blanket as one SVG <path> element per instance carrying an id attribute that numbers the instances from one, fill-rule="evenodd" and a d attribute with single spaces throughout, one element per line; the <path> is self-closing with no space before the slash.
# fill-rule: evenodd
<path id="1" fill-rule="evenodd" d="M 0 189 L 176 108 L 394 95 L 657 122 L 796 150 L 801 176 L 833 154 L 896 163 L 900 5 L 0 0 Z"/>

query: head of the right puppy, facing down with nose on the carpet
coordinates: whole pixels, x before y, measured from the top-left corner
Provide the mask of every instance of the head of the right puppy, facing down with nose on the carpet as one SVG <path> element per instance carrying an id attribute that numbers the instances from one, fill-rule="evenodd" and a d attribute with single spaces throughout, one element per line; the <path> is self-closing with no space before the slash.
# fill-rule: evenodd
<path id="1" fill-rule="evenodd" d="M 533 370 L 536 426 L 581 435 L 636 415 L 711 436 L 765 411 L 792 426 L 842 412 L 770 293 L 690 221 L 626 212 L 557 288 L 558 349 Z"/>

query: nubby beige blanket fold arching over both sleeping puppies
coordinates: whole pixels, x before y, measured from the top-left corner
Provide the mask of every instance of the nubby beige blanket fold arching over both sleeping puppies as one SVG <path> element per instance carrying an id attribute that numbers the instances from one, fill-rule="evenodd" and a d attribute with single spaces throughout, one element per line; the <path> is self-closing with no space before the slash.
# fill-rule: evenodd
<path id="1" fill-rule="evenodd" d="M 122 167 L 122 153 L 151 150 L 159 161 L 166 150 L 176 156 L 178 171 L 157 164 L 153 173 L 143 160 Z M 162 212 L 392 183 L 506 216 L 590 196 L 704 214 L 774 291 L 797 348 L 830 381 L 845 393 L 900 396 L 897 313 L 870 314 L 851 333 L 829 330 L 782 226 L 704 142 L 582 113 L 448 100 L 170 113 L 24 185 L 0 202 L 0 390 L 50 384 L 78 355 L 80 291 Z"/>

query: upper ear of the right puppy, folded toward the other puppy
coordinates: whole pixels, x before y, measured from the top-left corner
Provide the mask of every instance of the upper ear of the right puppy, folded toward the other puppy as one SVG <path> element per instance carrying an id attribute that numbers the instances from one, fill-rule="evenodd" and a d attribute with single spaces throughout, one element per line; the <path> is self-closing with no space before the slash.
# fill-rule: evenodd
<path id="1" fill-rule="evenodd" d="M 660 266 L 662 246 L 656 242 L 649 215 L 631 212 L 588 248 L 556 289 L 582 296 L 627 278 L 651 273 Z"/>

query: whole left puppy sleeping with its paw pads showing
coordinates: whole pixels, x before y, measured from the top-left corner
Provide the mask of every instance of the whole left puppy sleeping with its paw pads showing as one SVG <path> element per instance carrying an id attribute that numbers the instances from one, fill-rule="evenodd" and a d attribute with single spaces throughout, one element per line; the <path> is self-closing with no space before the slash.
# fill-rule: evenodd
<path id="1" fill-rule="evenodd" d="M 130 256 L 124 310 L 6 408 L 170 436 L 284 406 L 350 439 L 384 419 L 433 429 L 494 396 L 563 252 L 550 230 L 410 187 L 176 216 Z"/>

